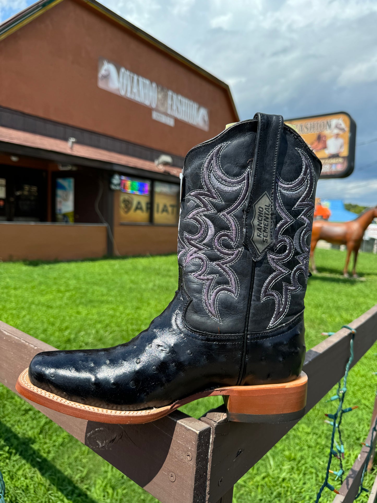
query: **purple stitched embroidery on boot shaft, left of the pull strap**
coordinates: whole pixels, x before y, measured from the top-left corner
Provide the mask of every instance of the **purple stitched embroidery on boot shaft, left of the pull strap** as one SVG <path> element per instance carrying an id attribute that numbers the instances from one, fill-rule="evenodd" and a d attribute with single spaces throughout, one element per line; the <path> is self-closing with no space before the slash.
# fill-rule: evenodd
<path id="1" fill-rule="evenodd" d="M 203 190 L 194 190 L 186 195 L 186 206 L 192 208 L 184 218 L 198 227 L 196 234 L 183 232 L 183 239 L 178 237 L 178 260 L 182 259 L 183 268 L 190 262 L 197 262 L 200 269 L 192 276 L 204 283 L 202 301 L 207 313 L 221 323 L 217 309 L 219 295 L 229 293 L 238 296 L 238 279 L 231 269 L 241 256 L 243 246 L 238 245 L 240 228 L 237 219 L 233 216 L 244 204 L 250 182 L 250 170 L 247 169 L 242 176 L 231 178 L 227 176 L 220 165 L 220 155 L 227 143 L 214 148 L 207 156 L 201 172 Z M 220 193 L 234 194 L 232 203 L 224 202 Z M 238 196 L 237 196 L 237 193 Z M 225 209 L 219 212 L 214 208 L 214 203 L 220 203 Z M 217 204 L 217 207 L 219 204 Z M 217 215 L 226 223 L 226 230 L 216 233 L 213 217 Z M 206 252 L 209 251 L 209 257 Z M 219 258 L 214 259 L 216 252 Z M 210 273 L 214 268 L 217 272 Z M 227 284 L 216 286 L 217 278 L 224 279 Z"/>

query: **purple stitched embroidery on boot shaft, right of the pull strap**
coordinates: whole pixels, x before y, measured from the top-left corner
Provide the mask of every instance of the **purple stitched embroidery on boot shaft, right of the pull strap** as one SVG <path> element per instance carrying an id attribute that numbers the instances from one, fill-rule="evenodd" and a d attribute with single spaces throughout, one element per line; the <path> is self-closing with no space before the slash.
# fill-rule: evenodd
<path id="1" fill-rule="evenodd" d="M 304 276 L 305 283 L 308 279 L 309 256 L 310 256 L 310 238 L 312 230 L 314 202 L 311 196 L 314 188 L 314 171 L 312 163 L 307 154 L 300 149 L 297 149 L 303 160 L 303 169 L 301 175 L 293 182 L 284 182 L 277 177 L 277 190 L 275 198 L 275 207 L 281 220 L 275 227 L 275 244 L 272 251 L 267 252 L 267 259 L 274 272 L 265 281 L 260 300 L 263 302 L 266 299 L 274 299 L 275 312 L 269 322 L 268 328 L 277 325 L 285 316 L 291 301 L 291 293 L 298 292 L 302 289 L 298 281 L 300 273 Z M 292 239 L 288 235 L 283 235 L 283 232 L 295 221 L 288 213 L 281 202 L 281 194 L 291 199 L 298 199 L 293 206 L 294 210 L 302 210 L 297 217 L 298 220 L 304 222 L 295 233 Z M 298 264 L 290 269 L 285 267 L 290 259 L 294 258 Z M 273 290 L 272 287 L 279 280 L 282 280 L 286 275 L 290 275 L 290 283 L 282 281 L 281 292 Z"/>

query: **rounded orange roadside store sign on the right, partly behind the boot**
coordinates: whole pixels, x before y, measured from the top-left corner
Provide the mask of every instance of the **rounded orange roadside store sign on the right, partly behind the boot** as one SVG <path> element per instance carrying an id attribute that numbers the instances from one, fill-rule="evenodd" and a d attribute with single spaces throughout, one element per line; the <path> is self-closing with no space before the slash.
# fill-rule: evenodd
<path id="1" fill-rule="evenodd" d="M 353 172 L 356 124 L 345 112 L 285 121 L 311 146 L 322 161 L 320 178 L 344 178 Z"/>

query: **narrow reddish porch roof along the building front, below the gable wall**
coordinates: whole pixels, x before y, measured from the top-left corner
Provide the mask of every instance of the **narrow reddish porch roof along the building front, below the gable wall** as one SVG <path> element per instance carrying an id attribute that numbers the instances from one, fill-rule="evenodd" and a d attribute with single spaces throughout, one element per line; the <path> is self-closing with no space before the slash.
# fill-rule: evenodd
<path id="1" fill-rule="evenodd" d="M 70 147 L 68 142 L 64 140 L 48 138 L 47 136 L 40 134 L 27 133 L 25 131 L 19 131 L 6 127 L 0 127 L 0 142 L 59 152 L 77 158 L 81 157 L 103 162 L 111 162 L 121 166 L 135 167 L 140 170 L 154 173 L 165 173 L 175 177 L 179 177 L 179 174 L 182 171 L 179 167 L 169 165 L 165 165 L 163 170 L 161 170 L 150 160 L 139 159 L 138 157 L 111 152 L 110 150 L 104 150 L 102 148 L 81 145 L 80 143 L 73 143 Z M 77 163 L 79 163 L 79 159 L 77 160 Z M 114 166 L 114 171 L 117 171 L 116 166 Z"/>

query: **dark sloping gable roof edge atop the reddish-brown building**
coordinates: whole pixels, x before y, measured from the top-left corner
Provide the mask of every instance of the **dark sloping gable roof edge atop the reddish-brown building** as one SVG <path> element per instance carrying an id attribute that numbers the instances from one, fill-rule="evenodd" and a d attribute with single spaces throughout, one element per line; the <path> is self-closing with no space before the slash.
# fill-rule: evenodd
<path id="1" fill-rule="evenodd" d="M 27 7 L 23 11 L 19 12 L 18 14 L 15 14 L 11 18 L 7 19 L 3 23 L 0 23 L 0 41 L 14 33 L 15 31 L 19 30 L 26 24 L 30 23 L 33 21 L 35 18 L 39 17 L 41 14 L 46 12 L 47 10 L 51 9 L 52 7 L 55 7 L 57 4 L 60 4 L 60 2 L 63 2 L 64 0 L 38 0 L 38 2 L 35 2 L 31 6 Z M 75 0 L 76 2 L 82 3 L 89 8 L 95 10 L 97 13 L 100 15 L 110 19 L 111 21 L 115 22 L 116 24 L 122 26 L 124 29 L 127 31 L 130 31 L 133 33 L 135 36 L 142 38 L 149 44 L 153 45 L 154 47 L 157 47 L 159 50 L 162 52 L 168 54 L 171 58 L 178 60 L 180 63 L 183 63 L 186 66 L 189 66 L 192 70 L 194 70 L 197 73 L 200 73 L 202 76 L 207 78 L 208 80 L 211 80 L 213 83 L 215 83 L 217 86 L 225 89 L 225 91 L 228 94 L 228 98 L 230 100 L 231 106 L 233 108 L 233 112 L 239 120 L 238 117 L 238 112 L 236 109 L 236 106 L 233 101 L 232 94 L 230 92 L 228 84 L 220 80 L 219 78 L 215 77 L 212 75 L 212 73 L 208 72 L 207 70 L 201 68 L 197 64 L 193 63 L 193 61 L 190 61 L 190 59 L 185 58 L 178 52 L 174 51 L 167 45 L 163 44 L 156 38 L 152 37 L 145 31 L 141 30 L 137 26 L 133 25 L 129 21 L 125 20 L 115 12 L 111 11 L 104 5 L 100 4 L 96 0 Z"/>

